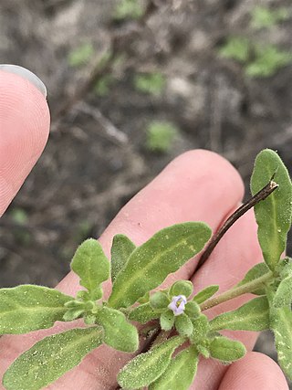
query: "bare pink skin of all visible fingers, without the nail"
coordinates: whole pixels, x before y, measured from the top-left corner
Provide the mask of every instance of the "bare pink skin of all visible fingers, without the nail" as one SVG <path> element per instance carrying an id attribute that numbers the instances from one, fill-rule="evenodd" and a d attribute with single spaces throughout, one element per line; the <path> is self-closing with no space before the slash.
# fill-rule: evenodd
<path id="1" fill-rule="evenodd" d="M 25 79 L 0 71 L 0 216 L 42 153 L 48 128 L 49 112 L 42 94 Z M 162 227 L 189 220 L 203 220 L 216 230 L 240 204 L 243 192 L 239 174 L 219 155 L 201 150 L 183 153 L 120 210 L 99 241 L 109 255 L 112 237 L 117 233 L 128 235 L 140 245 Z M 224 291 L 242 279 L 247 269 L 260 260 L 255 219 L 249 212 L 228 231 L 203 268 L 195 274 L 194 290 L 219 284 L 220 290 Z M 190 260 L 164 285 L 170 285 L 176 279 L 191 278 L 196 262 L 196 258 Z M 74 295 L 78 290 L 78 279 L 70 273 L 57 289 Z M 109 295 L 110 284 L 104 289 Z M 214 316 L 223 309 L 235 309 L 246 298 L 226 302 L 208 311 L 208 315 Z M 62 323 L 57 324 L 53 331 L 2 337 L 1 376 L 16 356 L 36 340 L 72 326 Z M 252 350 L 256 339 L 254 332 L 230 334 L 245 343 L 248 351 Z M 115 389 L 116 374 L 129 357 L 127 353 L 102 346 L 89 353 L 78 367 L 47 389 L 69 389 L 72 383 L 80 390 Z M 4 387 L 0 385 L 0 388 Z M 192 385 L 192 389 L 200 390 L 255 388 L 286 390 L 288 386 L 284 374 L 273 360 L 253 352 L 246 353 L 245 358 L 229 366 L 201 359 Z"/>

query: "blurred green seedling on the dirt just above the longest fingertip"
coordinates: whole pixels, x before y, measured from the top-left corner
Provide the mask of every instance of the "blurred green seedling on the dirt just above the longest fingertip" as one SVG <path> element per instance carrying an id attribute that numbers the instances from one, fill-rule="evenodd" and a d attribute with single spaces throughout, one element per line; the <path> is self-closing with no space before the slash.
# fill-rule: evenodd
<path id="1" fill-rule="evenodd" d="M 151 152 L 169 153 L 178 133 L 168 121 L 152 121 L 146 130 L 146 147 Z"/>

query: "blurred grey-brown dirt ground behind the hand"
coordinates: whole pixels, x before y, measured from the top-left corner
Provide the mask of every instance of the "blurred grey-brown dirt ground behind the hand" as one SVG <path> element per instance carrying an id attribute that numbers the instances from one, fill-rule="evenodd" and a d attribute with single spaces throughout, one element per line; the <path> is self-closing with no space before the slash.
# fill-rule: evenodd
<path id="1" fill-rule="evenodd" d="M 47 148 L 1 219 L 2 287 L 56 285 L 78 243 L 98 237 L 120 206 L 186 150 L 224 155 L 246 191 L 263 148 L 278 151 L 291 172 L 292 66 L 251 78 L 218 54 L 232 36 L 292 52 L 291 14 L 253 29 L 255 3 L 292 11 L 288 0 L 145 0 L 141 19 L 117 21 L 113 0 L 0 1 L 0 63 L 44 80 L 52 116 Z M 70 66 L 69 54 L 88 42 L 94 56 Z M 164 75 L 160 94 L 135 88 L 135 75 L 145 72 Z M 109 75 L 114 81 L 100 96 L 94 85 Z M 145 148 L 153 120 L 179 129 L 168 153 Z M 271 340 L 264 333 L 256 349 L 276 358 Z"/>

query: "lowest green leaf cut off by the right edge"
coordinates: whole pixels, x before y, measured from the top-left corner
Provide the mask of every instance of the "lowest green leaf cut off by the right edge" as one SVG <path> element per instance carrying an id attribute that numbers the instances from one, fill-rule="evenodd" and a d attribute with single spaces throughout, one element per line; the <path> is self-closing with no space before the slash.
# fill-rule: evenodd
<path id="1" fill-rule="evenodd" d="M 269 298 L 270 329 L 275 334 L 277 361 L 292 380 L 292 312 L 287 306 L 276 309 L 273 306 L 273 295 Z"/>

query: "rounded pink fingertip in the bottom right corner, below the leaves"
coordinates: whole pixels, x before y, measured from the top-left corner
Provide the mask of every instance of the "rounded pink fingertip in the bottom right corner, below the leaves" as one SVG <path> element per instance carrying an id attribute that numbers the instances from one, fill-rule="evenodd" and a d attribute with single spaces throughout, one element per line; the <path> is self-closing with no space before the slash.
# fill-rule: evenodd
<path id="1" fill-rule="evenodd" d="M 218 390 L 288 390 L 279 366 L 263 353 L 247 353 L 224 374 Z"/>

